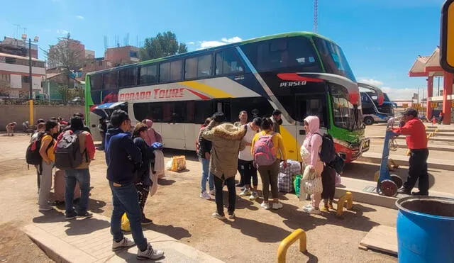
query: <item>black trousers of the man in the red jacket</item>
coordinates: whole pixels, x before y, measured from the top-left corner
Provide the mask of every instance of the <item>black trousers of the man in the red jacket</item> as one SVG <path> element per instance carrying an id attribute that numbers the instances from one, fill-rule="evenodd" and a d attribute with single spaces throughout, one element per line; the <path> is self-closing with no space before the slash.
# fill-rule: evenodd
<path id="1" fill-rule="evenodd" d="M 428 193 L 428 172 L 427 172 L 428 149 L 411 150 L 409 177 L 406 178 L 404 187 L 411 191 L 416 180 L 419 179 L 419 191 L 422 194 Z"/>

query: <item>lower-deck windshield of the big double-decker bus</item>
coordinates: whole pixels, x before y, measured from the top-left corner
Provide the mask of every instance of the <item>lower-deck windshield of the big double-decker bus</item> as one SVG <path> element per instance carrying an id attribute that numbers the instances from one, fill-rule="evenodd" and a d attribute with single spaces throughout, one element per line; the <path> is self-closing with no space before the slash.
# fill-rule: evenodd
<path id="1" fill-rule="evenodd" d="M 331 83 L 330 87 L 334 125 L 347 130 L 360 130 L 362 128 L 361 109 L 350 103 L 348 91 L 343 86 Z"/>

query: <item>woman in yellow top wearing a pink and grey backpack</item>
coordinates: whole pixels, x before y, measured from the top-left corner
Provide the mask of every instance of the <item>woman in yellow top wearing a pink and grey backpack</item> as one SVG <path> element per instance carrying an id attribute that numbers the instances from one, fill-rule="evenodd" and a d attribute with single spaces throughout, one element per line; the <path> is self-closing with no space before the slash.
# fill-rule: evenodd
<path id="1" fill-rule="evenodd" d="M 262 179 L 263 202 L 262 208 L 280 209 L 282 203 L 279 203 L 277 191 L 277 176 L 279 174 L 279 163 L 284 162 L 287 167 L 287 151 L 284 147 L 284 141 L 279 133 L 272 131 L 272 121 L 270 118 L 262 118 L 262 131 L 257 133 L 251 144 L 251 152 L 257 165 L 260 178 Z M 274 201 L 272 205 L 268 201 L 271 192 Z"/>

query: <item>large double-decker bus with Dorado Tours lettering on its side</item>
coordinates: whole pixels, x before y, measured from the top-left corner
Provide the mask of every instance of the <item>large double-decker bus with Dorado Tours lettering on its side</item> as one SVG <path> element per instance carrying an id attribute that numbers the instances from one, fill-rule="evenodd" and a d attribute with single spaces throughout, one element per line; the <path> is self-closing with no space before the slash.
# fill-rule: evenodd
<path id="1" fill-rule="evenodd" d="M 303 120 L 316 115 L 347 162 L 369 148 L 358 84 L 341 50 L 315 33 L 270 35 L 240 43 L 139 62 L 86 77 L 88 124 L 116 107 L 133 123 L 153 120 L 165 147 L 195 150 L 201 123 L 216 111 L 238 121 L 282 111 L 290 159 L 301 160 Z"/>

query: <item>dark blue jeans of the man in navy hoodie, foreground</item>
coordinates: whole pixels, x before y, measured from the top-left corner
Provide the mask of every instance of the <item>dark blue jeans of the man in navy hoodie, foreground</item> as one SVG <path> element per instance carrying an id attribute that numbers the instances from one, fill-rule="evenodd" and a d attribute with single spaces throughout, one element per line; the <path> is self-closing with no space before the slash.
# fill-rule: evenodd
<path id="1" fill-rule="evenodd" d="M 138 202 L 137 190 L 135 189 L 134 183 L 126 183 L 121 186 L 114 186 L 113 181 L 109 181 L 112 191 L 112 205 L 114 210 L 111 216 L 111 234 L 114 235 L 116 242 L 123 239 L 123 232 L 121 232 L 121 216 L 126 213 L 128 216 L 129 224 L 131 225 L 131 233 L 135 245 L 139 250 L 146 250 L 148 243 L 147 239 L 143 237 L 142 225 L 142 213 L 140 212 L 140 206 Z"/>

